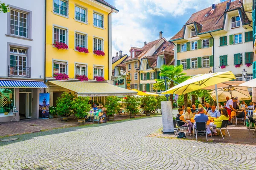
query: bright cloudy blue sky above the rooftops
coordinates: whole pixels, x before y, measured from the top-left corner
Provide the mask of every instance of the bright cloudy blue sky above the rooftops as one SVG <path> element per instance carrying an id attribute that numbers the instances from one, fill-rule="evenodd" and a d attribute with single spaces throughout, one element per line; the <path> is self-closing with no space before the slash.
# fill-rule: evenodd
<path id="1" fill-rule="evenodd" d="M 191 11 L 199 11 L 219 3 L 220 0 L 114 0 L 114 6 L 119 9 L 112 15 L 112 53 L 119 50 L 129 55 L 131 46 L 142 47 L 143 42 L 157 40 L 159 31 L 168 27 L 170 17 L 177 19 Z M 190 12 L 190 13 L 189 13 Z M 155 24 L 155 20 L 163 25 Z M 183 25 L 186 20 L 181 20 Z M 159 22 L 157 22 L 159 23 Z M 177 30 L 179 31 L 179 30 Z M 163 37 L 169 40 L 170 33 Z M 173 36 L 173 35 L 172 35 Z"/>

